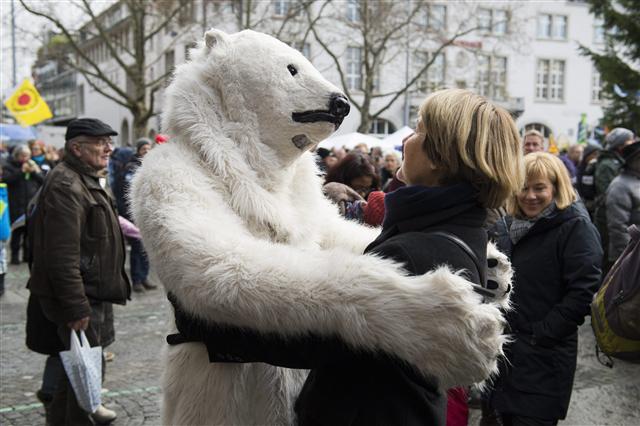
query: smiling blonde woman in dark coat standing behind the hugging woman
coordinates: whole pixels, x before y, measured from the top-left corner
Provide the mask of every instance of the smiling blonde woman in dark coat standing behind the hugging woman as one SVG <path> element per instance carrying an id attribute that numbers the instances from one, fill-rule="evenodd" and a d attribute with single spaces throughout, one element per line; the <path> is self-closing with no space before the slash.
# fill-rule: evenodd
<path id="1" fill-rule="evenodd" d="M 578 326 L 600 282 L 602 248 L 562 162 L 525 157 L 526 183 L 496 223 L 516 271 L 508 315 L 514 342 L 490 397 L 504 426 L 553 425 L 569 407 Z"/>

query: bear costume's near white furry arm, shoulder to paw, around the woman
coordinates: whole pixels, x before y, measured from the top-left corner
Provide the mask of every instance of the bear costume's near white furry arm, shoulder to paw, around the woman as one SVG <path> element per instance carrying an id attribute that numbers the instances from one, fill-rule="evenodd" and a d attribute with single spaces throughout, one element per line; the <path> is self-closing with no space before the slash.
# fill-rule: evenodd
<path id="1" fill-rule="evenodd" d="M 495 371 L 502 315 L 449 269 L 408 277 L 377 256 L 261 240 L 203 185 L 185 191 L 167 171 L 153 177 L 134 184 L 136 222 L 166 289 L 194 316 L 285 337 L 336 335 L 444 385 Z"/>

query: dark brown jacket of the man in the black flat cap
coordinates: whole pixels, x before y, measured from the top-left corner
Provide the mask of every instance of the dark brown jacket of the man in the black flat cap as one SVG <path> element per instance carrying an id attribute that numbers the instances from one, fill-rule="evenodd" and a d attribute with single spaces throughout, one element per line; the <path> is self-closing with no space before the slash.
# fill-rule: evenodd
<path id="1" fill-rule="evenodd" d="M 95 170 L 65 156 L 33 214 L 29 289 L 58 325 L 90 316 L 99 302 L 126 303 L 125 245 L 111 194 Z"/>

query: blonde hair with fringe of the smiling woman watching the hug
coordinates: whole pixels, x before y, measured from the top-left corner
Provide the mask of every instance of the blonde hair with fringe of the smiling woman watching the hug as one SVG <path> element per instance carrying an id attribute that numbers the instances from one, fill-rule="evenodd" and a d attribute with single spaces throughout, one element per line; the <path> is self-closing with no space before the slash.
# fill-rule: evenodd
<path id="1" fill-rule="evenodd" d="M 547 178 L 553 184 L 554 201 L 558 209 L 569 207 L 578 198 L 571 185 L 569 172 L 562 161 L 547 152 L 532 152 L 524 157 L 526 180 Z M 517 195 L 507 204 L 507 210 L 512 215 L 522 215 L 518 206 Z"/>

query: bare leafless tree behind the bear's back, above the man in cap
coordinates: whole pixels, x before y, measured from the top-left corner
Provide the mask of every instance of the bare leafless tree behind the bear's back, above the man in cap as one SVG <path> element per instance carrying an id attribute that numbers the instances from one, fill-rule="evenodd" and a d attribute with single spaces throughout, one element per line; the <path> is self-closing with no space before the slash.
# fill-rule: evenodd
<path id="1" fill-rule="evenodd" d="M 92 6 L 88 0 L 79 0 L 69 4 L 80 8 L 88 22 L 80 28 L 73 28 L 51 7 L 44 10 L 25 0 L 20 0 L 20 3 L 33 15 L 46 19 L 66 38 L 68 50 L 73 54 L 66 55 L 63 61 L 82 74 L 96 92 L 128 109 L 133 116 L 134 137 L 145 136 L 147 122 L 155 114 L 156 92 L 173 71 L 167 69 L 151 77 L 149 68 L 195 25 L 190 18 L 194 4 L 190 0 L 119 0 L 98 13 L 95 3 Z M 112 12 L 118 7 L 122 10 L 114 16 Z M 175 37 L 162 47 L 160 53 L 151 55 L 150 44 L 165 30 L 173 31 Z M 96 46 L 100 48 L 99 55 L 92 53 Z M 119 83 L 116 73 L 105 71 L 104 62 L 107 60 L 112 61 L 114 69 L 125 76 L 126 85 Z"/>

